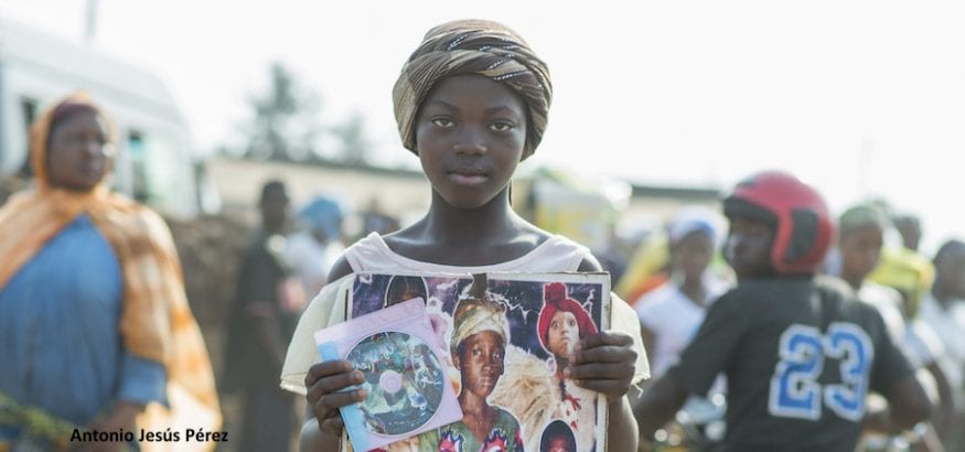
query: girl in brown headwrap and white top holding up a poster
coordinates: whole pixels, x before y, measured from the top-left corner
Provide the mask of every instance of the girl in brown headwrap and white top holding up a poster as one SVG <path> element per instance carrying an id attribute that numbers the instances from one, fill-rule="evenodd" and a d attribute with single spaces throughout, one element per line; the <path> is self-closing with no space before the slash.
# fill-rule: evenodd
<path id="1" fill-rule="evenodd" d="M 546 64 L 513 30 L 461 20 L 436 26 L 403 67 L 393 92 L 399 134 L 431 186 L 429 212 L 412 226 L 372 234 L 347 249 L 296 331 L 282 387 L 307 392 L 302 450 L 337 450 L 339 407 L 364 400 L 362 383 L 344 360 L 318 363 L 311 334 L 345 320 L 353 272 L 600 271 L 589 250 L 550 235 L 510 206 L 510 180 L 543 138 L 553 95 Z M 610 401 L 611 450 L 636 450 L 636 423 L 626 392 L 647 376 L 635 314 L 614 302 L 616 331 L 577 345 L 565 370 Z"/>

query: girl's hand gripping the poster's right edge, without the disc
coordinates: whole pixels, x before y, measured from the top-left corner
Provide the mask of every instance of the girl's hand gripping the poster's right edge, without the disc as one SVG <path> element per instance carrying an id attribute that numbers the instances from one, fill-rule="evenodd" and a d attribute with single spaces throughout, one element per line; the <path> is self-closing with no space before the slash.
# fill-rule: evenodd
<path id="1" fill-rule="evenodd" d="M 625 333 L 604 331 L 580 341 L 564 376 L 580 387 L 619 401 L 626 395 L 636 373 L 636 351 L 633 337 Z"/>

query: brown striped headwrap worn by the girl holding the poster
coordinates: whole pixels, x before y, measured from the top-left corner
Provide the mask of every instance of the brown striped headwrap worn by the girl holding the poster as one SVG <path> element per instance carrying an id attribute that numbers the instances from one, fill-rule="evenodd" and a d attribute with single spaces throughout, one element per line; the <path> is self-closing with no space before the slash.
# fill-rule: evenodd
<path id="1" fill-rule="evenodd" d="M 438 25 L 409 56 L 393 89 L 403 146 L 418 154 L 416 116 L 436 84 L 454 75 L 482 75 L 505 84 L 526 101 L 528 118 L 523 158 L 536 150 L 546 130 L 553 85 L 546 63 L 506 25 L 458 20 Z"/>

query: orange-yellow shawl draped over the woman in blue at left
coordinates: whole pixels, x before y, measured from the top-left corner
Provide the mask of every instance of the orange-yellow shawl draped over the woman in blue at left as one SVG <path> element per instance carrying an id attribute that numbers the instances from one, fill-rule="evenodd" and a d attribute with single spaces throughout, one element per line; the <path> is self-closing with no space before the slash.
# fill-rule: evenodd
<path id="1" fill-rule="evenodd" d="M 64 101 L 93 106 L 83 94 Z M 139 419 L 140 427 L 218 429 L 221 411 L 214 374 L 201 329 L 187 304 L 170 229 L 158 214 L 110 193 L 103 181 L 87 193 L 51 186 L 45 161 L 52 112 L 53 108 L 31 129 L 35 191 L 18 193 L 0 208 L 0 288 L 64 226 L 87 213 L 121 265 L 124 304 L 119 327 L 125 348 L 135 356 L 161 363 L 168 376 L 170 409 L 157 403 L 148 407 Z M 200 423 L 186 424 L 187 419 Z M 154 446 L 170 448 L 174 443 L 149 443 L 144 450 Z"/>

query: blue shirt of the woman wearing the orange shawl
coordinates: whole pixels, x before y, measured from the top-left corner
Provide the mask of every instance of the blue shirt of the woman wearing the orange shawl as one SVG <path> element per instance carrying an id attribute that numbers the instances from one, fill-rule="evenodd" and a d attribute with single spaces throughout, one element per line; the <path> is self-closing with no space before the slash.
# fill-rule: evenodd
<path id="1" fill-rule="evenodd" d="M 0 391 L 85 426 L 119 400 L 167 402 L 160 363 L 124 349 L 110 244 L 82 215 L 0 288 Z"/>

